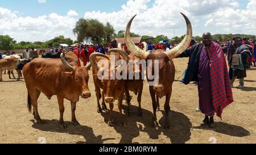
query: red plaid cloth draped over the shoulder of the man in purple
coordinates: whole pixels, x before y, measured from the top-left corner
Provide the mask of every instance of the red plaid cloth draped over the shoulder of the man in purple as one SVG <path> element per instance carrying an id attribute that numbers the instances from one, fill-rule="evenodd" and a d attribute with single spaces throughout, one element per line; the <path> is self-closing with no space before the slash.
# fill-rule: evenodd
<path id="1" fill-rule="evenodd" d="M 234 102 L 230 84 L 228 67 L 224 52 L 219 44 L 213 43 L 209 48 L 210 82 L 212 86 L 212 102 L 217 116 L 222 119 L 222 111 Z"/>

